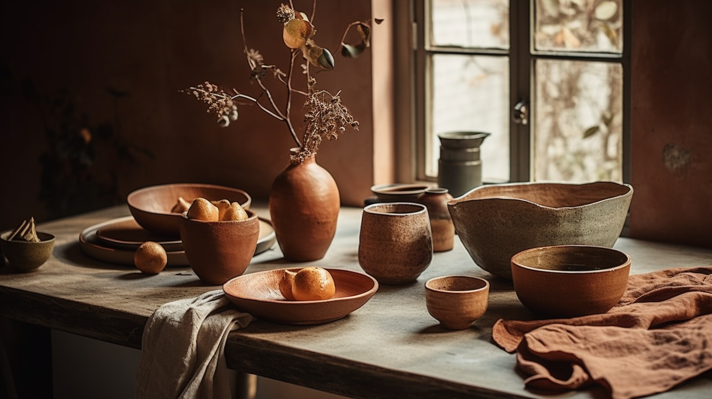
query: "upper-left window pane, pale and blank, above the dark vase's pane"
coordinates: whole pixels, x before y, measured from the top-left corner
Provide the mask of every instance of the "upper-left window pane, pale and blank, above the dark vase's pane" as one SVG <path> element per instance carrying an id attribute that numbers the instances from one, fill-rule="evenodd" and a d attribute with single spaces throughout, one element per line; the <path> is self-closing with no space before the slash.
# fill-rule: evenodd
<path id="1" fill-rule="evenodd" d="M 508 0 L 431 0 L 433 46 L 509 48 Z"/>

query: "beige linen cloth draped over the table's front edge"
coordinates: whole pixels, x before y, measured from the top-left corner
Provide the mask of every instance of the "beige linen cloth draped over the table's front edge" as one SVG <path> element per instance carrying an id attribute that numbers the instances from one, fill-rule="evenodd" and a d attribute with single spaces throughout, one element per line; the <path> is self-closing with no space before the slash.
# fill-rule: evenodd
<path id="1" fill-rule="evenodd" d="M 159 307 L 143 332 L 136 398 L 231 398 L 225 342 L 251 320 L 221 289 Z"/>

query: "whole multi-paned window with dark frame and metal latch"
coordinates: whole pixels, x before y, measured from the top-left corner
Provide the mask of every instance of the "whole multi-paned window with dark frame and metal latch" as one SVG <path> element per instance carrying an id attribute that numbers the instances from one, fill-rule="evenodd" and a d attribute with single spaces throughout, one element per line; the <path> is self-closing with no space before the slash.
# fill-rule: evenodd
<path id="1" fill-rule="evenodd" d="M 463 130 L 484 182 L 627 180 L 629 0 L 415 4 L 418 180 Z"/>

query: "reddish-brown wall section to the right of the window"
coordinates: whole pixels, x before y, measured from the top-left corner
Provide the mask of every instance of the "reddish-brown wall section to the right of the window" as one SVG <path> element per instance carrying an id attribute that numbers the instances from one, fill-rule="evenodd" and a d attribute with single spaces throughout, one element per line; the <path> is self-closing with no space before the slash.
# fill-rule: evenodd
<path id="1" fill-rule="evenodd" d="M 630 235 L 712 247 L 712 2 L 633 10 Z"/>

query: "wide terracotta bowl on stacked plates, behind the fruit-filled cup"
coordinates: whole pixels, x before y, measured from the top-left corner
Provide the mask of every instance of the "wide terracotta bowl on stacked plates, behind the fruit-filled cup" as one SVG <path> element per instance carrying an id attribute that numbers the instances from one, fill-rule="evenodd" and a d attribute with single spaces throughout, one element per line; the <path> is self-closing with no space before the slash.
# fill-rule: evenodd
<path id="1" fill-rule="evenodd" d="M 144 187 L 130 192 L 126 202 L 134 219 L 144 229 L 165 237 L 179 237 L 178 224 L 181 215 L 171 212 L 178 202 L 178 197 L 183 197 L 188 202 L 192 202 L 197 197 L 204 197 L 211 201 L 229 199 L 230 202 L 237 202 L 245 209 L 252 203 L 250 195 L 243 190 L 197 183 Z"/>

